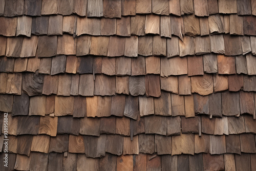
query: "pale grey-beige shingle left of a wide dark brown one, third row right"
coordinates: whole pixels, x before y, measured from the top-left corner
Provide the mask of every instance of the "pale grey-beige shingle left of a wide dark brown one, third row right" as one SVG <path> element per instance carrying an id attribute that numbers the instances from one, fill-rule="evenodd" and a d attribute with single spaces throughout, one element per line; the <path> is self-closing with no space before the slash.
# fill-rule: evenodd
<path id="1" fill-rule="evenodd" d="M 225 53 L 225 46 L 224 46 L 224 38 L 223 35 L 211 35 L 210 36 L 210 45 L 211 45 L 211 52 L 224 54 Z"/>

